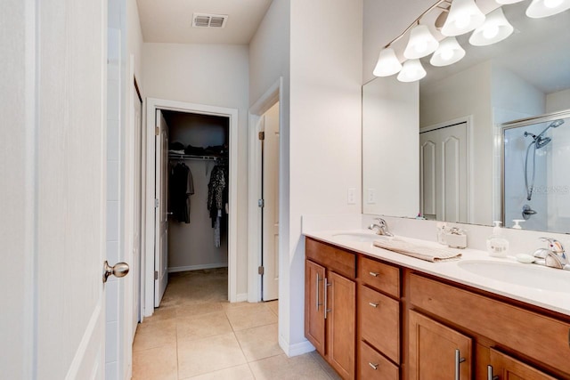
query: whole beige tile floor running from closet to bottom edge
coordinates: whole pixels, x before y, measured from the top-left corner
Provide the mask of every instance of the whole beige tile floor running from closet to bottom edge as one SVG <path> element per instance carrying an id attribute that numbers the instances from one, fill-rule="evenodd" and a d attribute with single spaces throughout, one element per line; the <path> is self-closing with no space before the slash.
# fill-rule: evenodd
<path id="1" fill-rule="evenodd" d="M 228 303 L 225 269 L 173 273 L 134 336 L 133 379 L 339 379 L 315 352 L 283 353 L 277 308 Z"/>

